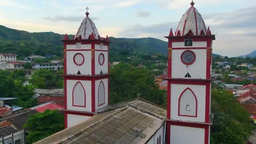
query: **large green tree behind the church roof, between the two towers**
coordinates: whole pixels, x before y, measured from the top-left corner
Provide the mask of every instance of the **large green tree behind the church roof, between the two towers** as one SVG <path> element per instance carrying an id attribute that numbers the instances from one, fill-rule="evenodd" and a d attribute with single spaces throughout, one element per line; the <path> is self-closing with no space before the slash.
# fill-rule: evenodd
<path id="1" fill-rule="evenodd" d="M 140 97 L 159 105 L 166 105 L 165 92 L 155 85 L 149 70 L 118 64 L 110 69 L 110 103 Z"/>

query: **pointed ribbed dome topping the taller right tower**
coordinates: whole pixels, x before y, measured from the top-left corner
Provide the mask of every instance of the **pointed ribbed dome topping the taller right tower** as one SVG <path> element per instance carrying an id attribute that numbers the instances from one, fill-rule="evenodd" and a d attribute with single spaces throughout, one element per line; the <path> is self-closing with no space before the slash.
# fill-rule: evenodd
<path id="1" fill-rule="evenodd" d="M 179 22 L 175 36 L 183 36 L 188 33 L 193 35 L 206 34 L 206 26 L 202 16 L 194 7 L 195 3 L 192 1 L 190 4 L 191 7 L 186 11 Z"/>

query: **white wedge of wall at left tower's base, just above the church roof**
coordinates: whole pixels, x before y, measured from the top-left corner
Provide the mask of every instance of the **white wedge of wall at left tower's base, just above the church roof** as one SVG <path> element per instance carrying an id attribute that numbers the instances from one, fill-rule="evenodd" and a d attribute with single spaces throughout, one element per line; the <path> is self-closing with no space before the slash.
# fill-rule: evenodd
<path id="1" fill-rule="evenodd" d="M 91 117 L 67 114 L 67 127 L 69 128 L 69 127 L 72 127 L 73 125 L 77 125 L 81 122 L 86 121 L 89 118 Z"/>

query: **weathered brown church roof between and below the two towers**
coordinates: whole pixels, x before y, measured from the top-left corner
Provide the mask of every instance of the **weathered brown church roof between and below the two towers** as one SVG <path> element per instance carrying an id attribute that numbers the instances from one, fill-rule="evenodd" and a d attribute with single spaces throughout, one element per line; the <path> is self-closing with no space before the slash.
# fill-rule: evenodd
<path id="1" fill-rule="evenodd" d="M 125 101 L 36 143 L 146 143 L 165 119 L 164 107 L 143 99 Z"/>

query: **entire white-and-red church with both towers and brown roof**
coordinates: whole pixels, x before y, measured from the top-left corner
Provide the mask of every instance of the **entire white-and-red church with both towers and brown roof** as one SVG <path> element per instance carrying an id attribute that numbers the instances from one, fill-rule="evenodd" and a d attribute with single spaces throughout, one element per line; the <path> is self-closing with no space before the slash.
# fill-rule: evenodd
<path id="1" fill-rule="evenodd" d="M 67 129 L 36 143 L 210 143 L 215 35 L 190 4 L 166 37 L 167 110 L 139 97 L 109 105 L 110 42 L 87 11 L 74 38 L 63 40 Z"/>

